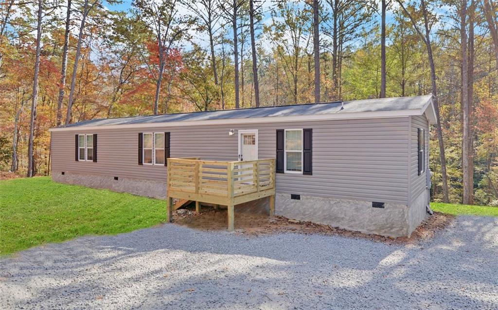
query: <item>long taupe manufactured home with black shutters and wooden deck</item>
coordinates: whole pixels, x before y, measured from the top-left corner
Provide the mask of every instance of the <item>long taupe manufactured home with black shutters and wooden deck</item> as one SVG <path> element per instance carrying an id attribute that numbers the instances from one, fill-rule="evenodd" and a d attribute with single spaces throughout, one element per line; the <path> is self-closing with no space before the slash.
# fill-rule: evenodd
<path id="1" fill-rule="evenodd" d="M 431 95 L 88 120 L 50 130 L 52 178 L 228 206 L 232 229 L 256 207 L 406 236 L 427 215 L 435 122 Z"/>

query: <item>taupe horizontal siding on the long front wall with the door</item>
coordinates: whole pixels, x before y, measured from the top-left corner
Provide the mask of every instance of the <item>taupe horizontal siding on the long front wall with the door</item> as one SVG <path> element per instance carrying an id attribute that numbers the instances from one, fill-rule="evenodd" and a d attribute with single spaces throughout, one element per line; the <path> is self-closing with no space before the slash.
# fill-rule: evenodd
<path id="1" fill-rule="evenodd" d="M 53 170 L 166 180 L 166 167 L 138 165 L 139 132 L 171 132 L 171 157 L 237 160 L 237 130 L 258 129 L 258 156 L 275 157 L 275 130 L 313 129 L 313 175 L 277 173 L 277 192 L 407 203 L 408 117 L 292 123 L 53 132 Z M 229 136 L 230 129 L 236 134 Z M 74 135 L 98 134 L 98 162 L 74 160 Z"/>

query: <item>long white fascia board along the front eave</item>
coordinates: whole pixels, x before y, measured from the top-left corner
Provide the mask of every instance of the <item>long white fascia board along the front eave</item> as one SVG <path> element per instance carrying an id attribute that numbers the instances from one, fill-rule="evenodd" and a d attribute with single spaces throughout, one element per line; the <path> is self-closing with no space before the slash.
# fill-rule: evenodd
<path id="1" fill-rule="evenodd" d="M 177 121 L 162 123 L 140 123 L 140 124 L 122 124 L 122 125 L 99 125 L 99 126 L 74 126 L 67 128 L 50 128 L 50 132 L 60 131 L 91 131 L 91 130 L 112 130 L 112 129 L 133 129 L 133 128 L 153 128 L 153 127 L 184 127 L 184 126 L 208 126 L 208 125 L 241 125 L 257 123 L 283 123 L 283 122 L 309 122 L 309 121 L 326 121 L 326 120 L 350 120 L 350 119 L 369 119 L 369 118 L 394 118 L 408 117 L 412 115 L 422 115 L 423 111 L 402 110 L 402 111 L 376 111 L 376 112 L 351 112 L 337 114 L 313 114 L 313 115 L 295 115 L 295 116 L 267 116 L 251 118 L 231 118 L 203 121 Z"/>

